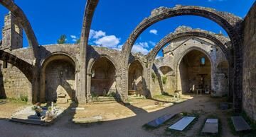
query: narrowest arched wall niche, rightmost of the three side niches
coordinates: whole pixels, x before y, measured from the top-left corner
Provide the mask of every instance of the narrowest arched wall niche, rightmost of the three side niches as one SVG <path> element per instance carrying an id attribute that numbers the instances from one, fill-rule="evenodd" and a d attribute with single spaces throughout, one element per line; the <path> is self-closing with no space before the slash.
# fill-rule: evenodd
<path id="1" fill-rule="evenodd" d="M 133 61 L 129 66 L 128 95 L 144 95 L 143 81 L 143 66 L 138 60 Z"/>

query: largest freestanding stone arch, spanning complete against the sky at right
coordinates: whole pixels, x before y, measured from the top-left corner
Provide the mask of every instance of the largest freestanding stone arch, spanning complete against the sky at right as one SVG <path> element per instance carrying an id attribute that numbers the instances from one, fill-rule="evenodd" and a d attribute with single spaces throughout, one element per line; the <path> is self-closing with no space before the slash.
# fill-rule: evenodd
<path id="1" fill-rule="evenodd" d="M 129 38 L 124 43 L 122 47 L 122 90 L 127 92 L 127 64 L 129 61 L 129 55 L 131 53 L 132 47 L 134 42 L 137 40 L 137 37 L 149 28 L 149 26 L 153 25 L 160 20 L 164 20 L 166 18 L 171 18 L 174 16 L 185 16 L 185 15 L 192 15 L 192 16 L 201 16 L 204 18 L 208 18 L 213 20 L 215 23 L 218 23 L 221 27 L 226 30 L 228 33 L 230 40 L 232 42 L 233 48 L 235 49 L 235 87 L 234 87 L 234 100 L 235 100 L 235 109 L 240 111 L 241 109 L 241 92 L 242 92 L 242 53 L 240 52 L 240 48 L 242 47 L 242 40 L 241 40 L 241 22 L 242 19 L 234 16 L 231 13 L 215 11 L 212 8 L 204 8 L 201 6 L 176 6 L 174 8 L 166 8 L 160 7 L 151 11 L 151 16 L 142 20 L 139 25 L 135 28 Z M 124 100 L 127 97 L 124 96 Z"/>

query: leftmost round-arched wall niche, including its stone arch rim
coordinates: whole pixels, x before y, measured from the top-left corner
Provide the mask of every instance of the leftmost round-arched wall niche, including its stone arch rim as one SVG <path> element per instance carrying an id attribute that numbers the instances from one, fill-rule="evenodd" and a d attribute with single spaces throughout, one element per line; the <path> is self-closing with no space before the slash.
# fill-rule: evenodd
<path id="1" fill-rule="evenodd" d="M 65 54 L 53 54 L 42 65 L 41 102 L 66 103 L 75 100 L 75 61 Z"/>

